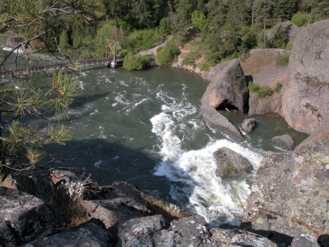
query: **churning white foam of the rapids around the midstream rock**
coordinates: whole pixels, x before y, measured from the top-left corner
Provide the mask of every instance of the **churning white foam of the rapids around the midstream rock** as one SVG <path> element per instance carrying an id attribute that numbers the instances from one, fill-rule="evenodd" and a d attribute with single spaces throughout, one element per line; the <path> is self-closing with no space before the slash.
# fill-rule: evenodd
<path id="1" fill-rule="evenodd" d="M 246 204 L 250 185 L 246 178 L 231 183 L 217 178 L 213 153 L 221 147 L 228 147 L 245 157 L 254 168 L 262 160 L 262 154 L 226 139 L 210 139 L 202 149 L 183 150 L 182 140 L 177 133 L 189 131 L 183 122 L 187 116 L 196 112 L 194 107 L 188 104 L 165 105 L 162 109 L 166 112 L 151 119 L 152 132 L 161 141 L 159 154 L 163 159 L 156 166 L 154 175 L 166 176 L 170 181 L 182 184 L 170 189 L 172 198 L 180 201 L 188 196 L 192 211 L 203 215 L 210 225 L 219 225 L 222 222 L 238 225 L 237 218 L 243 216 L 241 202 Z M 196 122 L 192 121 L 192 125 L 197 128 Z"/>

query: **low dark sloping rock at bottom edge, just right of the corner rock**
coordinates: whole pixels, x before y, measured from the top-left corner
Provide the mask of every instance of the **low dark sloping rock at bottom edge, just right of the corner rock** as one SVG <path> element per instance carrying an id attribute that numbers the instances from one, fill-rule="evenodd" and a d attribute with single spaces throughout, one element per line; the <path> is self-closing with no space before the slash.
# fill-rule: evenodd
<path id="1" fill-rule="evenodd" d="M 112 236 L 104 228 L 88 223 L 79 229 L 48 236 L 22 247 L 107 247 L 112 246 L 111 239 Z"/>

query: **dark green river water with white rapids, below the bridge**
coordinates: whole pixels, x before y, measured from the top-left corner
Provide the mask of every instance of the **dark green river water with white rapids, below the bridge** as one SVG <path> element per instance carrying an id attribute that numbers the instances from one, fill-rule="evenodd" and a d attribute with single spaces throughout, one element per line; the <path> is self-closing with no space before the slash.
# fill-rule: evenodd
<path id="1" fill-rule="evenodd" d="M 203 215 L 211 225 L 239 225 L 255 171 L 265 154 L 281 152 L 269 141 L 289 133 L 300 143 L 306 135 L 281 118 L 256 116 L 258 126 L 236 144 L 208 128 L 199 109 L 206 82 L 178 69 L 128 72 L 105 66 L 83 67 L 81 85 L 66 125 L 74 139 L 51 145 L 56 167 L 84 168 L 100 185 L 123 180 L 163 201 Z M 222 112 L 240 123 L 243 116 Z M 229 147 L 254 171 L 220 179 L 213 152 Z"/>

